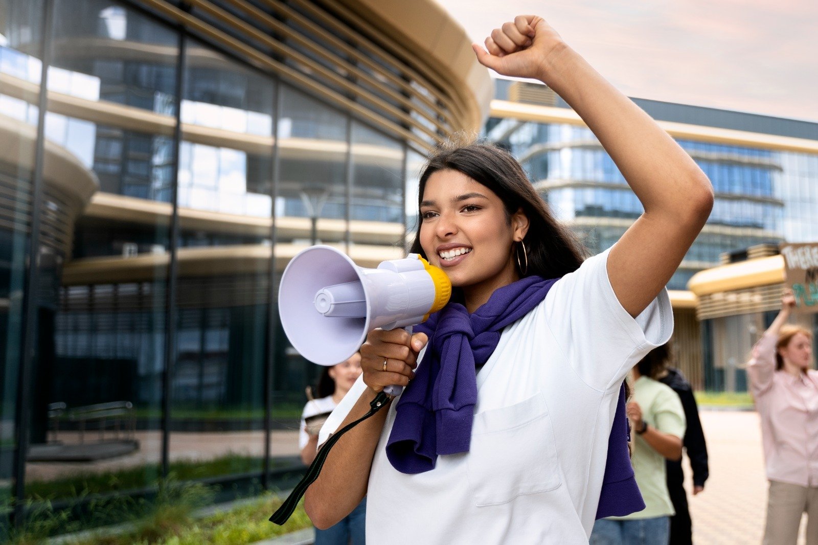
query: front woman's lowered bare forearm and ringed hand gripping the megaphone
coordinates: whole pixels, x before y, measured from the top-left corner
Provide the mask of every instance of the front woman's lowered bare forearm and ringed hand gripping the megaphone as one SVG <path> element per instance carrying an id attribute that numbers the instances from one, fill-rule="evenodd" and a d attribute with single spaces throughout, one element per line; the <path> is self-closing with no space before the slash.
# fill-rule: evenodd
<path id="1" fill-rule="evenodd" d="M 426 336 L 409 336 L 407 331 L 372 331 L 361 347 L 361 367 L 366 383 L 361 397 L 349 412 L 342 428 L 370 410 L 370 403 L 388 385 L 409 383 L 416 367 L 417 354 L 426 343 Z M 384 371 L 384 359 L 387 370 Z M 339 439 L 326 458 L 321 475 L 304 494 L 304 510 L 317 528 L 335 525 L 353 511 L 366 495 L 369 472 L 375 448 L 388 407 L 363 421 Z"/>

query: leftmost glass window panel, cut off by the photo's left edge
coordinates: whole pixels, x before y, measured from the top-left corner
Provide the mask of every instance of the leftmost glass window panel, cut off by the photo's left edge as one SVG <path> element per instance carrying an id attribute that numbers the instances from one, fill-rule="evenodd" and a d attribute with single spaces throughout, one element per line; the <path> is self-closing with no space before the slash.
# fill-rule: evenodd
<path id="1" fill-rule="evenodd" d="M 0 538 L 5 534 L 7 508 L 16 486 L 13 468 L 24 348 L 20 340 L 42 70 L 42 12 L 40 0 L 0 0 L 0 74 L 6 82 L 0 87 Z M 53 175 L 44 179 L 47 187 L 55 182 Z M 61 248 L 65 251 L 65 245 Z M 53 279 L 48 280 L 51 284 Z M 33 388 L 29 392 L 36 395 Z M 44 436 L 47 429 L 38 416 L 35 413 L 32 418 L 34 431 L 40 432 L 36 438 Z"/>

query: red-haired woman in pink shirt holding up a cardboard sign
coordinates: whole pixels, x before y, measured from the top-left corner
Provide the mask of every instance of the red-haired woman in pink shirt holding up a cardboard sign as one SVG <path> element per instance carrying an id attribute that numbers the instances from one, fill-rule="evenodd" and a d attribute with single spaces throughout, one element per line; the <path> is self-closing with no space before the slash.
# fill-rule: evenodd
<path id="1" fill-rule="evenodd" d="M 786 323 L 794 306 L 784 293 L 747 367 L 770 480 L 764 545 L 795 545 L 804 511 L 807 545 L 818 545 L 818 372 L 811 332 Z"/>

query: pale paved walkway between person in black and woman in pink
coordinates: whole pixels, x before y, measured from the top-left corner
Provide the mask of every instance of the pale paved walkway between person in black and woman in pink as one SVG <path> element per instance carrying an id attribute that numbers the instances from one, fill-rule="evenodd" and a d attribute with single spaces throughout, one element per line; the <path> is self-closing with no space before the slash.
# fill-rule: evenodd
<path id="1" fill-rule="evenodd" d="M 767 481 L 761 429 L 755 412 L 702 411 L 710 478 L 704 492 L 690 496 L 694 543 L 759 545 L 764 534 Z M 690 491 L 690 466 L 685 488 Z M 802 536 L 798 543 L 804 543 Z"/>

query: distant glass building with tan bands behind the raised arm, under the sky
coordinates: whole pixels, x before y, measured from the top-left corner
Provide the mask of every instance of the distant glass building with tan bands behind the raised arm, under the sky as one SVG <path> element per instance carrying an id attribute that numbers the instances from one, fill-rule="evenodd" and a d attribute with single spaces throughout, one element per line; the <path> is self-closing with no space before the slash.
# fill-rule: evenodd
<path id="1" fill-rule="evenodd" d="M 556 217 L 582 236 L 591 254 L 609 248 L 643 211 L 622 173 L 550 89 L 504 79 L 496 84 L 497 100 L 484 129 L 488 139 L 520 160 Z M 752 335 L 739 335 L 725 321 L 777 309 L 778 297 L 770 294 L 780 293 L 781 280 L 775 289 L 765 287 L 759 308 L 730 303 L 730 297 L 714 303 L 710 292 L 697 299 L 688 284 L 699 271 L 746 259 L 748 248 L 766 248 L 768 254 L 775 251 L 769 245 L 781 241 L 818 241 L 818 124 L 634 100 L 676 138 L 715 190 L 708 223 L 667 286 L 678 363 L 699 388 L 743 390 L 740 364 L 753 336 L 766 326 L 753 318 L 753 327 L 742 326 Z"/>

